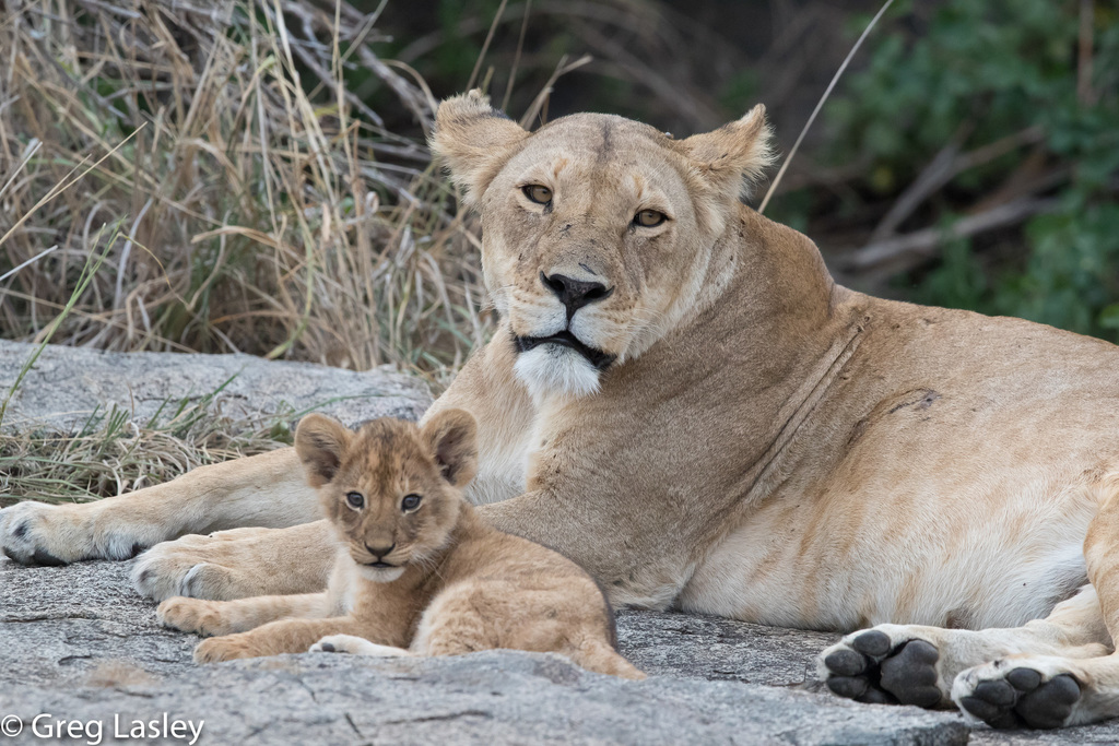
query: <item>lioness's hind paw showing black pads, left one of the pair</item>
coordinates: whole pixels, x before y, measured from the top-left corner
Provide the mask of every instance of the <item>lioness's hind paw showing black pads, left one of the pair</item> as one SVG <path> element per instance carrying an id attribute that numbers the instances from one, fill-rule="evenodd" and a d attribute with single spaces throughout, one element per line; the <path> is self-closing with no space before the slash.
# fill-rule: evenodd
<path id="1" fill-rule="evenodd" d="M 828 689 L 858 702 L 925 708 L 948 703 L 940 651 L 901 625 L 848 634 L 820 654 L 817 670 Z"/>

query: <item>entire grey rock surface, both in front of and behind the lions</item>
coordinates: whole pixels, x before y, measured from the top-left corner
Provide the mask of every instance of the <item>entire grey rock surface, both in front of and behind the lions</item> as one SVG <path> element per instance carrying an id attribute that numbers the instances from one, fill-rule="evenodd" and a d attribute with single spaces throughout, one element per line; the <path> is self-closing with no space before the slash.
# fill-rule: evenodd
<path id="1" fill-rule="evenodd" d="M 0 393 L 31 351 L 0 341 Z M 69 429 L 110 402 L 139 421 L 234 374 L 211 404 L 234 418 L 316 407 L 356 423 L 416 417 L 430 400 L 422 385 L 385 370 L 47 348 L 4 426 Z M 150 727 L 144 739 L 114 735 L 128 735 L 133 720 L 162 727 L 164 715 L 205 721 L 196 743 L 215 745 L 1119 742 L 1119 725 L 999 733 L 971 729 L 956 712 L 856 705 L 816 681 L 815 658 L 837 635 L 684 614 L 619 613 L 620 648 L 650 674 L 642 682 L 510 651 L 440 660 L 303 654 L 199 668 L 190 660 L 197 640 L 156 624 L 130 567 L 25 568 L 0 558 L 0 746 L 43 740 L 32 729 L 43 714 L 53 718 L 38 721 L 40 734 L 48 723 L 78 720 L 81 733 L 66 743 L 95 746 L 189 743 L 189 731 L 162 739 Z M 20 735 L 7 737 L 16 728 Z"/>

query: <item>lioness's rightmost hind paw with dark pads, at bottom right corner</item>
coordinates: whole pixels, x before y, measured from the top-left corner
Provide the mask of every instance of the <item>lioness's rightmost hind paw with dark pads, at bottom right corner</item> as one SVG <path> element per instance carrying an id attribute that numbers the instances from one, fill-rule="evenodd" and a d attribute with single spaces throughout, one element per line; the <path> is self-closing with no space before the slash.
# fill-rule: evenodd
<path id="1" fill-rule="evenodd" d="M 993 728 L 1075 725 L 1083 697 L 1061 659 L 1012 657 L 961 671 L 952 700 Z"/>

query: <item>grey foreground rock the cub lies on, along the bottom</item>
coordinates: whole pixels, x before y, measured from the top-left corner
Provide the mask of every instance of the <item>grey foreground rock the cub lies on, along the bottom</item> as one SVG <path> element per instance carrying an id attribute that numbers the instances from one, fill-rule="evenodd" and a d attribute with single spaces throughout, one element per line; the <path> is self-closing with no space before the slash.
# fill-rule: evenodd
<path id="1" fill-rule="evenodd" d="M 649 680 L 558 655 L 282 655 L 196 667 L 196 639 L 160 629 L 131 563 L 0 563 L 0 718 L 204 720 L 200 744 L 965 744 L 958 715 L 855 705 L 797 688 L 827 635 L 626 612 L 622 650 Z M 787 660 L 782 660 L 787 659 Z M 759 683 L 712 681 L 753 679 Z M 768 677 L 777 686 L 762 686 Z M 47 720 L 39 720 L 45 733 Z M 84 728 L 85 726 L 83 726 Z M 96 726 L 94 726 L 96 727 Z M 83 743 L 79 739 L 77 743 Z M 173 740 L 173 739 L 172 739 Z M 178 743 L 186 743 L 186 739 Z"/>

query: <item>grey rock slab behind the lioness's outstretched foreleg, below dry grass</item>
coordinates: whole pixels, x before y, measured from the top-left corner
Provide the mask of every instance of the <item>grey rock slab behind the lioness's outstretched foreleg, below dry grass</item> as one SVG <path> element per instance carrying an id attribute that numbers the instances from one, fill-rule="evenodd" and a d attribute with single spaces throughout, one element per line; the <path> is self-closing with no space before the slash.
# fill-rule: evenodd
<path id="1" fill-rule="evenodd" d="M 0 400 L 37 346 L 0 340 Z M 220 391 L 207 407 L 234 421 L 325 412 L 355 425 L 375 417 L 416 419 L 431 394 L 389 366 L 355 372 L 309 362 L 267 361 L 250 355 L 103 352 L 48 344 L 28 371 L 4 416 L 6 429 L 70 432 L 94 410 L 117 407 L 135 423 L 168 403 L 195 403 Z"/>

